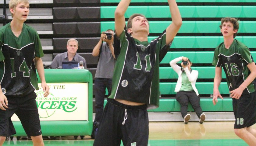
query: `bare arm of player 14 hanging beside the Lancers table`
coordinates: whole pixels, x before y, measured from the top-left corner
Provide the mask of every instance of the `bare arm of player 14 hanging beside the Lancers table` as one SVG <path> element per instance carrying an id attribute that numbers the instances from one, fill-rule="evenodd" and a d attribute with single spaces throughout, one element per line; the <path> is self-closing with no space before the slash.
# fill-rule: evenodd
<path id="1" fill-rule="evenodd" d="M 41 58 L 35 57 L 35 65 L 36 69 L 39 75 L 39 78 L 41 79 L 41 86 L 44 91 L 44 97 L 47 97 L 50 92 L 49 86 L 46 84 L 45 78 L 44 78 L 44 66 L 43 61 Z"/>

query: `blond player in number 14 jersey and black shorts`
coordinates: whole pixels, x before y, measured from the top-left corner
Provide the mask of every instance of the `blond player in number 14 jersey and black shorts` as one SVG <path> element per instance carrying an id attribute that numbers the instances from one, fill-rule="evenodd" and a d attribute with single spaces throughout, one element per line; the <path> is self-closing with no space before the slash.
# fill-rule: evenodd
<path id="1" fill-rule="evenodd" d="M 0 146 L 5 137 L 16 134 L 11 116 L 16 113 L 33 144 L 44 146 L 36 104 L 37 75 L 41 79 L 44 97 L 49 87 L 44 78 L 39 36 L 24 24 L 29 14 L 28 0 L 10 0 L 12 21 L 0 29 Z"/>

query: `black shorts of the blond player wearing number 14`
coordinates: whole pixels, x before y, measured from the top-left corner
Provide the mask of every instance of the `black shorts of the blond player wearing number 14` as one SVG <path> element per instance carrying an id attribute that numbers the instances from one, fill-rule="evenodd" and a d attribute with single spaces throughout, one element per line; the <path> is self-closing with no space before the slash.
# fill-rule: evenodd
<path id="1" fill-rule="evenodd" d="M 6 111 L 0 109 L 0 136 L 8 137 L 16 134 L 11 121 L 14 113 L 19 117 L 27 136 L 42 134 L 36 96 L 35 92 L 31 92 L 27 96 L 7 97 L 9 108 Z"/>

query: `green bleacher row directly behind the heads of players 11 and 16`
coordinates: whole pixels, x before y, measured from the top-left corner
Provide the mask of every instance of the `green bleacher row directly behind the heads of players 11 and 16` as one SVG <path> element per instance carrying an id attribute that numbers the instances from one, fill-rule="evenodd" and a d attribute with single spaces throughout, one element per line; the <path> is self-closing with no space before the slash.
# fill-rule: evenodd
<path id="1" fill-rule="evenodd" d="M 162 33 L 170 24 L 171 21 L 149 21 L 149 33 Z M 220 21 L 183 21 L 178 33 L 220 33 L 219 25 Z M 114 27 L 113 21 L 101 22 L 101 31 Z M 240 21 L 238 33 L 256 33 L 255 28 L 256 21 Z"/>

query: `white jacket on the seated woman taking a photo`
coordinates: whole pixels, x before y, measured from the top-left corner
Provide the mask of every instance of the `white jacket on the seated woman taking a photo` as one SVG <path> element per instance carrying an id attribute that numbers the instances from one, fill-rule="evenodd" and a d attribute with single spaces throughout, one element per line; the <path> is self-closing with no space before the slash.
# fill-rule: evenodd
<path id="1" fill-rule="evenodd" d="M 177 81 L 174 92 L 179 92 L 180 88 L 181 88 L 181 74 L 182 74 L 182 71 L 180 69 L 181 67 L 179 65 L 177 65 L 176 63 L 179 62 L 179 61 L 182 61 L 182 57 L 178 57 L 178 58 L 175 58 L 172 61 L 170 61 L 170 65 L 171 65 L 172 69 L 174 71 L 176 71 L 176 73 L 179 75 L 179 78 L 178 78 L 178 81 Z M 196 94 L 199 95 L 198 91 L 197 91 L 197 88 L 196 88 L 196 81 L 197 81 L 197 77 L 198 77 L 198 71 L 192 70 L 192 72 L 190 73 L 190 71 L 188 70 L 188 67 L 184 68 L 184 71 L 186 72 L 188 80 L 191 82 L 192 88 L 194 89 Z"/>

